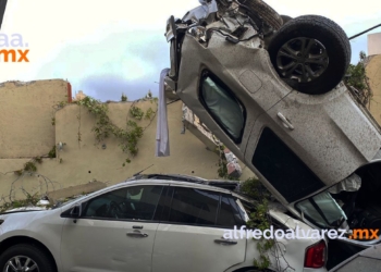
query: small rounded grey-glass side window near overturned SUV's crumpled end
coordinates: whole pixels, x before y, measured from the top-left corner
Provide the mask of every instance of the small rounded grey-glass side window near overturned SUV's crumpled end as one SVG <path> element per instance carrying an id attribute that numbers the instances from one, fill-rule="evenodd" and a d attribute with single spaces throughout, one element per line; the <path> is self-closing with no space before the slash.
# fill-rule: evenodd
<path id="1" fill-rule="evenodd" d="M 224 84 L 206 71 L 200 88 L 200 99 L 209 114 L 236 144 L 241 143 L 245 125 L 242 103 Z"/>

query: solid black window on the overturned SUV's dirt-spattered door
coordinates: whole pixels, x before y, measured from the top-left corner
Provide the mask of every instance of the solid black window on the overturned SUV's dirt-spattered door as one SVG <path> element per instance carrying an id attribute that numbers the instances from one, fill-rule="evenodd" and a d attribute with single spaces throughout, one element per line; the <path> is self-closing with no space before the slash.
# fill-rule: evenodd
<path id="1" fill-rule="evenodd" d="M 260 136 L 251 163 L 288 202 L 324 186 L 312 171 L 267 127 Z"/>

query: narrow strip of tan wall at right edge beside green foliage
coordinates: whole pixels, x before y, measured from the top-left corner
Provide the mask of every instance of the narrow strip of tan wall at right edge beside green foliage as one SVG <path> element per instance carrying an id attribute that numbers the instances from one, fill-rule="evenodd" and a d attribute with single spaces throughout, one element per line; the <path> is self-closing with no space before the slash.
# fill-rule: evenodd
<path id="1" fill-rule="evenodd" d="M 381 125 L 381 54 L 370 58 L 366 66 L 367 76 L 369 77 L 370 88 L 373 97 L 370 101 L 370 113 Z"/>

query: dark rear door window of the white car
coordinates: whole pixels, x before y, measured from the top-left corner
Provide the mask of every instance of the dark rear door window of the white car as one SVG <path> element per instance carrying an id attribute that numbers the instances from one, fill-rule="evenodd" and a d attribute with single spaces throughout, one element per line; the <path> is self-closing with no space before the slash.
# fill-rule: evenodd
<path id="1" fill-rule="evenodd" d="M 169 221 L 190 225 L 214 225 L 219 194 L 209 190 L 175 188 Z"/>

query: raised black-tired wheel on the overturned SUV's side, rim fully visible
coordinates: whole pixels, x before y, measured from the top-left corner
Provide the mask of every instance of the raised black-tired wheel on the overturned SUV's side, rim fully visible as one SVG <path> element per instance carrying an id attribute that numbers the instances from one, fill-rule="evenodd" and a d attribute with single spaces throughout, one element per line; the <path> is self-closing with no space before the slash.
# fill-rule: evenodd
<path id="1" fill-rule="evenodd" d="M 351 62 L 351 45 L 345 32 L 333 21 L 305 15 L 287 22 L 268 47 L 279 75 L 297 90 L 321 95 L 343 79 Z M 292 79 L 292 81 L 290 81 Z"/>

